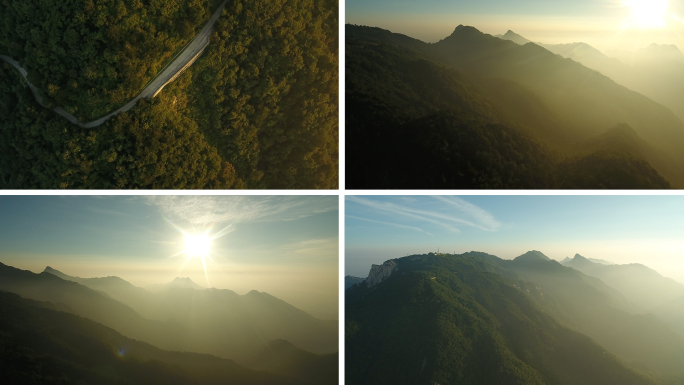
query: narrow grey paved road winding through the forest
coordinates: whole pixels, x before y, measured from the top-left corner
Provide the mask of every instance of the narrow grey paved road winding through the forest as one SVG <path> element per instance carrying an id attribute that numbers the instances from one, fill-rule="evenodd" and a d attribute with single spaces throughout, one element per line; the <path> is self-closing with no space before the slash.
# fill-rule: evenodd
<path id="1" fill-rule="evenodd" d="M 209 38 L 211 36 L 211 32 L 214 30 L 214 24 L 216 23 L 216 20 L 218 20 L 219 16 L 221 16 L 221 11 L 223 10 L 223 7 L 225 7 L 226 3 L 228 0 L 225 0 L 219 7 L 214 11 L 214 13 L 211 15 L 209 18 L 209 21 L 207 24 L 195 35 L 195 37 L 185 46 L 183 49 L 183 52 L 181 52 L 178 57 L 176 57 L 173 62 L 171 62 L 169 65 L 167 65 L 157 76 L 152 80 L 141 92 L 133 98 L 130 102 L 126 103 L 125 106 L 119 108 L 118 110 L 109 113 L 106 116 L 101 117 L 100 119 L 94 120 L 92 122 L 88 123 L 81 123 L 71 115 L 70 113 L 66 112 L 62 107 L 57 107 L 55 108 L 55 112 L 62 115 L 65 117 L 67 120 L 69 120 L 71 123 L 76 124 L 80 127 L 83 128 L 93 128 L 101 125 L 104 123 L 107 119 L 111 118 L 114 115 L 117 115 L 121 112 L 125 112 L 133 108 L 138 103 L 138 100 L 140 98 L 153 98 L 157 96 L 159 92 L 166 86 L 167 84 L 171 83 L 172 81 L 176 80 L 178 76 L 180 76 L 188 67 L 190 67 L 195 60 L 199 57 L 199 55 L 202 54 L 204 49 L 207 47 L 209 44 Z M 0 55 L 0 59 L 10 63 L 13 65 L 21 75 L 24 77 L 26 80 L 26 83 L 28 83 L 29 88 L 31 88 L 31 92 L 33 92 L 33 96 L 36 98 L 36 101 L 40 103 L 43 107 L 45 105 L 43 104 L 43 98 L 40 96 L 38 93 L 38 90 L 36 87 L 31 84 L 31 82 L 28 81 L 28 78 L 26 77 L 27 73 L 26 70 L 23 69 L 19 63 L 17 63 L 16 60 L 13 60 L 9 56 L 5 55 Z"/>

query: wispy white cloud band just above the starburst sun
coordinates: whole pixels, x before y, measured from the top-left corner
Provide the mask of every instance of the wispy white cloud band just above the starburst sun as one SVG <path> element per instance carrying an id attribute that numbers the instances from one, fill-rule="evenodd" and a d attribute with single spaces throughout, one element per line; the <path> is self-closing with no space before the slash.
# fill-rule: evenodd
<path id="1" fill-rule="evenodd" d="M 291 221 L 337 210 L 337 197 L 329 196 L 147 196 L 172 220 L 192 224 L 236 223 L 254 220 Z"/>

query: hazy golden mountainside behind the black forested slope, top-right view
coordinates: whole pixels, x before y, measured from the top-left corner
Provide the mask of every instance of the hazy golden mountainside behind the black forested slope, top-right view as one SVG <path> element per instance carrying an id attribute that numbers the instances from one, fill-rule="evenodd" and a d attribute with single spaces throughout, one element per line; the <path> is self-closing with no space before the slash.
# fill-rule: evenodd
<path id="1" fill-rule="evenodd" d="M 619 123 L 629 124 L 678 165 L 659 173 L 672 183 L 684 183 L 679 168 L 684 157 L 677 149 L 684 146 L 684 123 L 671 111 L 536 44 L 512 44 L 461 26 L 451 36 L 429 45 L 429 51 L 439 62 L 456 69 L 484 77 L 505 77 L 529 87 L 579 140 Z"/>

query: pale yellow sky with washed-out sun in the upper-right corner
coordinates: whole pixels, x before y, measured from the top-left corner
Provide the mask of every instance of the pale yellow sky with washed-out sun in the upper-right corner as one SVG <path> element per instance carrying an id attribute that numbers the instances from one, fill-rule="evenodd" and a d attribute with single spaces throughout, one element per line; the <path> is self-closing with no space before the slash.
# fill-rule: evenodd
<path id="1" fill-rule="evenodd" d="M 459 24 L 534 42 L 585 42 L 607 52 L 651 43 L 684 51 L 684 0 L 347 0 L 345 22 L 436 42 Z"/>

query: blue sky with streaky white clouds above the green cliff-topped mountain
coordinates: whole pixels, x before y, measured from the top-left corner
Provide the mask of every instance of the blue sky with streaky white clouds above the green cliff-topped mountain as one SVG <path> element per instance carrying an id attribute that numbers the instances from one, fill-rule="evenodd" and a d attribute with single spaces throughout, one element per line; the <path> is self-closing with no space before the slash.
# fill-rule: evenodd
<path id="1" fill-rule="evenodd" d="M 684 196 L 347 196 L 345 274 L 412 254 L 538 250 L 641 263 L 684 283 Z"/>

